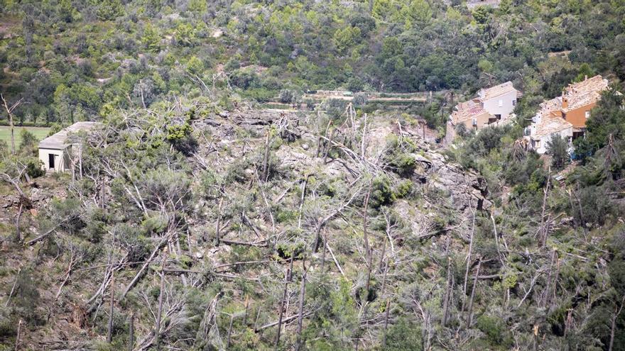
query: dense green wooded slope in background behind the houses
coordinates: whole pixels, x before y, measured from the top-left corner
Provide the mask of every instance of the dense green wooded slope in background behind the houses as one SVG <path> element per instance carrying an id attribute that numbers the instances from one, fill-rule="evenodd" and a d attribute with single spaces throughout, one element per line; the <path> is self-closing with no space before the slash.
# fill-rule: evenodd
<path id="1" fill-rule="evenodd" d="M 266 101 L 322 88 L 467 94 L 506 80 L 554 96 L 584 73 L 625 78 L 619 0 L 503 0 L 473 11 L 456 0 L 2 5 L 0 91 L 26 99 L 16 111 L 25 122 L 93 119 L 213 84 Z M 570 61 L 548 57 L 565 50 Z"/>

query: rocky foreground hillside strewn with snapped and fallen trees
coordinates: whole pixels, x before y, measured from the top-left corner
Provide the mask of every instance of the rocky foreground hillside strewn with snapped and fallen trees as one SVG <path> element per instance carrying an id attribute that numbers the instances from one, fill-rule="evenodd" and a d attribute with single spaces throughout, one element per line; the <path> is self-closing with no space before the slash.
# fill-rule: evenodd
<path id="1" fill-rule="evenodd" d="M 85 139 L 82 174 L 5 198 L 7 347 L 18 320 L 33 350 L 270 349 L 277 325 L 285 350 L 609 340 L 623 212 L 576 214 L 536 156 L 509 161 L 506 191 L 406 116 L 159 108 L 115 111 Z"/>

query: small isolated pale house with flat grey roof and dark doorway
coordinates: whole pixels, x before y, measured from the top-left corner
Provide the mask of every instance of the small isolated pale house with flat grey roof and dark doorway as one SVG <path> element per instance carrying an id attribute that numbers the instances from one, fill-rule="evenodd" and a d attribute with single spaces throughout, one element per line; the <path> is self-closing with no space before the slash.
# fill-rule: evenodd
<path id="1" fill-rule="evenodd" d="M 48 172 L 65 172 L 72 167 L 72 146 L 68 137 L 80 130 L 91 130 L 100 126 L 97 122 L 77 122 L 58 133 L 50 135 L 39 143 L 39 160 Z"/>

